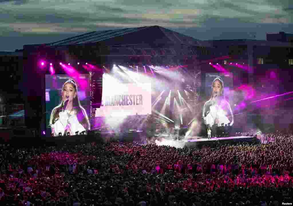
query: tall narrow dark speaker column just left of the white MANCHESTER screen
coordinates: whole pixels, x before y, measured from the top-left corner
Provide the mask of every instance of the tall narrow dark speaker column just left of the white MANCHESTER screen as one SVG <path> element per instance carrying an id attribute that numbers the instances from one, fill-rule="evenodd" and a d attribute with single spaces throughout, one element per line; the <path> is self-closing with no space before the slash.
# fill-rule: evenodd
<path id="1" fill-rule="evenodd" d="M 96 72 L 91 77 L 92 107 L 100 108 L 103 94 L 103 72 Z"/>

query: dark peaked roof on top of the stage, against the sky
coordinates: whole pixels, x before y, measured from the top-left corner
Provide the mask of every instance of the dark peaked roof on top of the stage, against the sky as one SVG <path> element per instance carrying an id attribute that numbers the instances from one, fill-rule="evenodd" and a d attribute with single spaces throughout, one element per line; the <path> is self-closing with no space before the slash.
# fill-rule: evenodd
<path id="1" fill-rule="evenodd" d="M 145 26 L 116 30 L 94 31 L 46 44 L 47 46 L 67 46 L 98 43 L 103 46 L 137 44 L 172 44 L 201 46 L 201 41 L 178 32 L 160 27 Z"/>

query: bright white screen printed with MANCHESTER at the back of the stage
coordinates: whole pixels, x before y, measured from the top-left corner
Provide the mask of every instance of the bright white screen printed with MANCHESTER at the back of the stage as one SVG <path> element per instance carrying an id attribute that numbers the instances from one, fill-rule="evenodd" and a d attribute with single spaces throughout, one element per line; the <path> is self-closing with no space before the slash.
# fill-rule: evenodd
<path id="1" fill-rule="evenodd" d="M 107 84 L 103 82 L 102 105 L 96 117 L 151 114 L 151 84 Z"/>

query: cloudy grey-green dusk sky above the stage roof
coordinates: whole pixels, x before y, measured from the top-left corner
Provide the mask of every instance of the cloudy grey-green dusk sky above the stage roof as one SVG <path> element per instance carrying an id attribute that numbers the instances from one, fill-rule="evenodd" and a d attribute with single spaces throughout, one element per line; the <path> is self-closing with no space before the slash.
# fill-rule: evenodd
<path id="1" fill-rule="evenodd" d="M 91 31 L 151 25 L 199 40 L 265 40 L 266 33 L 293 33 L 293 3 L 291 0 L 0 0 L 0 19 L 0 51 L 14 51 L 25 44 L 50 43 Z"/>

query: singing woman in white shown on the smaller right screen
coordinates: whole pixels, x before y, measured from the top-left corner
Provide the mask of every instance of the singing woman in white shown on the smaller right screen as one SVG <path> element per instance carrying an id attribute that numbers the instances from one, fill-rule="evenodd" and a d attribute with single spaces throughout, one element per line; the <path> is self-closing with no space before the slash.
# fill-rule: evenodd
<path id="1" fill-rule="evenodd" d="M 230 123 L 232 126 L 234 123 L 230 104 L 224 97 L 224 83 L 221 77 L 215 78 L 212 83 L 211 98 L 203 107 L 202 117 L 205 125 L 210 127 L 213 125 L 221 126 L 222 123 Z"/>

